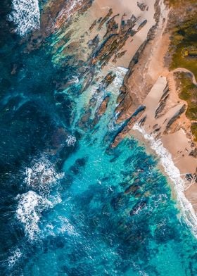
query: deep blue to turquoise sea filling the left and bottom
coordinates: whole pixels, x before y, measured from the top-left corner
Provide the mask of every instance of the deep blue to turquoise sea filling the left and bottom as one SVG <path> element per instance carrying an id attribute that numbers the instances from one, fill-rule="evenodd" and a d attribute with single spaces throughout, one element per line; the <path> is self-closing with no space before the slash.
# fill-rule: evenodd
<path id="1" fill-rule="evenodd" d="M 197 275 L 157 158 L 133 137 L 110 147 L 121 77 L 82 93 L 89 72 L 53 62 L 56 35 L 27 53 L 1 29 L 1 275 Z"/>

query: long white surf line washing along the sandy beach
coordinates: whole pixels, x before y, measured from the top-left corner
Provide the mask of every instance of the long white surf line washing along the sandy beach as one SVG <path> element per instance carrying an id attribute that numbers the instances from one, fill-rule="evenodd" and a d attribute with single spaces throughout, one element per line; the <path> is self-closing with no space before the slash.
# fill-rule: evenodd
<path id="1" fill-rule="evenodd" d="M 185 197 L 184 180 L 180 175 L 179 169 L 174 165 L 171 154 L 165 149 L 160 140 L 155 140 L 152 135 L 147 134 L 144 128 L 140 127 L 138 124 L 135 124 L 133 129 L 138 130 L 144 135 L 144 138 L 150 143 L 151 149 L 159 156 L 160 163 L 163 165 L 166 174 L 174 183 L 174 191 L 177 194 L 177 202 L 179 203 L 182 215 L 187 225 L 191 227 L 193 234 L 197 236 L 197 217 L 191 203 Z"/>

